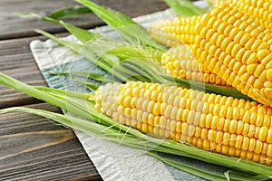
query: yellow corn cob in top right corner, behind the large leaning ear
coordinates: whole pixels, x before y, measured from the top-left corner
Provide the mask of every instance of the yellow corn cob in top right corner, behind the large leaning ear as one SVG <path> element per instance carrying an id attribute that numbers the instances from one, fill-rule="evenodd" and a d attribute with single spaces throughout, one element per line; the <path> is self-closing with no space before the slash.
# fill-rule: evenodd
<path id="1" fill-rule="evenodd" d="M 272 1 L 271 0 L 227 0 L 218 1 L 217 4 L 227 2 L 230 5 L 238 7 L 238 9 L 246 14 L 254 15 L 265 24 L 268 28 L 272 28 Z"/>

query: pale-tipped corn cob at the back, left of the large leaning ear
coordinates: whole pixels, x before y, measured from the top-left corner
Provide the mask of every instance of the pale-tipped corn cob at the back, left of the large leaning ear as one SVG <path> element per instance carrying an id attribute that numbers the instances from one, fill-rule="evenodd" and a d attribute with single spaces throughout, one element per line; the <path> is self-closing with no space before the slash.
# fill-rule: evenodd
<path id="1" fill-rule="evenodd" d="M 192 44 L 195 41 L 196 24 L 200 18 L 201 16 L 176 17 L 161 21 L 153 24 L 149 33 L 154 40 L 170 47 L 181 43 Z"/>

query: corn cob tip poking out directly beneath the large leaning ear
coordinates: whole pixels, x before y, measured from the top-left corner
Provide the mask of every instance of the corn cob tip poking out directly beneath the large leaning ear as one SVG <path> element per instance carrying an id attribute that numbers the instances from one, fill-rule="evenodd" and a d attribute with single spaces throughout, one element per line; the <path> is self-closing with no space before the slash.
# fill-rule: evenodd
<path id="1" fill-rule="evenodd" d="M 203 64 L 197 62 L 184 44 L 170 48 L 168 52 L 164 52 L 161 56 L 160 63 L 173 77 L 227 85 L 227 81 L 223 81 L 215 73 L 209 71 Z"/>

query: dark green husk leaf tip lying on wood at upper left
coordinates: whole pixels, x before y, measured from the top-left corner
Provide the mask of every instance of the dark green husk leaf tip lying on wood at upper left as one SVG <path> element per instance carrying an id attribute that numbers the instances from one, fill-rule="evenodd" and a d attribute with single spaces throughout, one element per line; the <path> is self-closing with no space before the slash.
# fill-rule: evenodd
<path id="1" fill-rule="evenodd" d="M 73 5 L 71 7 L 65 7 L 63 9 L 58 9 L 56 11 L 51 12 L 48 14 L 48 17 L 59 19 L 83 14 L 92 14 L 92 11 L 87 7 L 82 7 L 79 5 Z"/>

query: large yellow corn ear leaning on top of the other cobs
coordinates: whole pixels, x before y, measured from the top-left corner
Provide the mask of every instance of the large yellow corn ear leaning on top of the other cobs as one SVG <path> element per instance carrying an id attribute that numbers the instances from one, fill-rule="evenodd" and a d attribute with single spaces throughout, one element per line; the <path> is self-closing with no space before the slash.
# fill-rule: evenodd
<path id="1" fill-rule="evenodd" d="M 197 26 L 191 51 L 198 62 L 248 97 L 272 107 L 271 30 L 228 4 L 204 14 Z"/>

